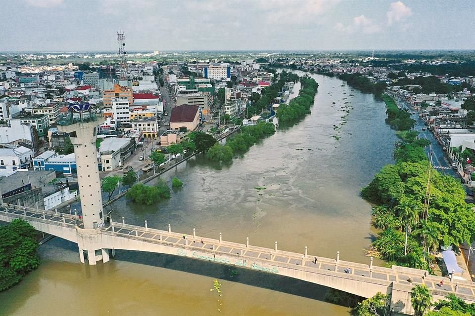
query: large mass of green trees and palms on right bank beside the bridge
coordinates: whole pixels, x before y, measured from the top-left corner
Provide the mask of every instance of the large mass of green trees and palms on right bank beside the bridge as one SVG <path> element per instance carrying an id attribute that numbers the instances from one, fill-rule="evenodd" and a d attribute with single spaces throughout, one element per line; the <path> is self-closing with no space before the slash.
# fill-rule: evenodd
<path id="1" fill-rule="evenodd" d="M 429 142 L 416 135 L 399 134 L 403 141 L 394 150 L 396 163 L 382 167 L 362 196 L 380 204 L 373 224 L 382 232 L 370 252 L 390 263 L 429 270 L 429 250 L 474 240 L 475 214 L 460 182 L 433 169 L 424 151 Z"/>

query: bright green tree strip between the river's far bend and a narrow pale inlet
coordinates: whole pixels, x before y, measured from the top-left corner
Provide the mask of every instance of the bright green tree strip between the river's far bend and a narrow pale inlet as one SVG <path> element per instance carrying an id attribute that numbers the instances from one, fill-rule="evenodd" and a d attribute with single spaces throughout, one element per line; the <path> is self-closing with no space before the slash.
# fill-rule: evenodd
<path id="1" fill-rule="evenodd" d="M 279 122 L 288 122 L 296 118 L 302 118 L 310 113 L 310 107 L 313 105 L 315 94 L 317 93 L 318 83 L 315 79 L 309 77 L 300 78 L 302 88 L 298 97 L 290 100 L 287 104 L 281 104 L 277 110 Z"/>

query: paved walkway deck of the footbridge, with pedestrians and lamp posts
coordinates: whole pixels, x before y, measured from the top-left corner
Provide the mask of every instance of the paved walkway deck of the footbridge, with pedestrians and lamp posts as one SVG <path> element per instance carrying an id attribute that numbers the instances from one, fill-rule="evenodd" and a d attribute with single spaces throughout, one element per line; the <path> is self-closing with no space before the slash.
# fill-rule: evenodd
<path id="1" fill-rule="evenodd" d="M 68 225 L 82 227 L 82 221 L 79 216 L 70 214 L 59 214 L 54 211 L 37 211 L 32 208 L 7 208 L 0 207 L 0 214 L 7 215 L 11 219 L 22 218 L 27 221 L 47 221 L 51 225 Z M 180 249 L 195 249 L 196 251 L 206 250 L 211 252 L 215 258 L 223 255 L 235 255 L 243 260 L 250 262 L 269 262 L 273 266 L 288 267 L 295 265 L 308 272 L 324 272 L 332 271 L 335 273 L 346 274 L 345 270 L 350 269 L 352 276 L 367 277 L 368 279 L 395 282 L 399 284 L 426 284 L 427 287 L 438 290 L 456 292 L 459 295 L 475 296 L 475 283 L 469 280 L 449 281 L 447 277 L 425 276 L 424 271 L 410 269 L 404 267 L 393 266 L 392 268 L 384 268 L 370 265 L 324 258 L 308 254 L 305 256 L 301 253 L 289 252 L 280 249 L 271 249 L 246 245 L 225 240 L 193 237 L 188 234 L 179 234 L 171 231 L 162 231 L 141 226 L 134 226 L 122 223 L 111 223 L 100 229 L 104 234 L 114 235 L 124 238 L 133 238 L 144 242 L 164 244 L 177 248 L 177 254 L 180 255 Z M 316 259 L 316 260 L 315 260 Z M 411 278 L 412 282 L 408 279 Z M 443 280 L 444 284 L 439 286 L 439 282 Z M 457 284 L 457 285 L 456 285 Z M 456 289 L 457 286 L 457 289 Z"/>

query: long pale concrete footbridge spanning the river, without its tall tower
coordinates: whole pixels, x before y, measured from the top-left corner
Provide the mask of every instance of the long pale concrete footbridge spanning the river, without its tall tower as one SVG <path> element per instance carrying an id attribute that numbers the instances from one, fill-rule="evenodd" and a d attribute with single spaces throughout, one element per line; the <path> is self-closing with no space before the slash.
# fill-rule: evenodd
<path id="1" fill-rule="evenodd" d="M 195 230 L 191 234 L 172 232 L 170 225 L 166 230 L 147 226 L 134 226 L 122 223 L 106 223 L 96 229 L 84 229 L 82 219 L 77 215 L 43 211 L 22 206 L 0 207 L 0 220 L 11 222 L 23 219 L 35 229 L 78 244 L 80 261 L 96 264 L 104 263 L 116 249 L 138 250 L 184 256 L 221 264 L 233 265 L 269 274 L 289 276 L 296 279 L 324 285 L 337 290 L 371 297 L 377 292 L 391 294 L 391 309 L 395 313 L 411 315 L 411 288 L 415 284 L 426 284 L 435 300 L 454 293 L 468 303 L 475 302 L 475 283 L 465 280 L 449 280 L 445 277 L 429 276 L 427 271 L 399 266 L 383 268 L 369 264 L 348 262 L 335 258 L 311 255 L 307 247 L 302 253 L 274 248 L 258 247 L 245 243 L 198 237 Z M 100 249 L 100 250 L 96 250 Z M 316 260 L 315 260 L 316 259 Z M 350 272 L 345 270 L 350 268 Z M 438 286 L 443 280 L 443 286 Z"/>

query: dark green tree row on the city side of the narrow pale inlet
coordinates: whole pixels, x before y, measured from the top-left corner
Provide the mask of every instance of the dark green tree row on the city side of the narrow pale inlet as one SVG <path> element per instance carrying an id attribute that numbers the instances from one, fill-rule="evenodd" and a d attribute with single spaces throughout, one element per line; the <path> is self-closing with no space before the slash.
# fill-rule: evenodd
<path id="1" fill-rule="evenodd" d="M 269 71 L 276 73 L 275 69 L 270 69 Z M 297 82 L 299 79 L 298 75 L 294 73 L 287 73 L 283 70 L 279 74 L 279 80 L 273 83 L 272 85 L 262 89 L 261 95 L 253 94 L 252 96 L 252 105 L 246 108 L 246 117 L 250 118 L 255 115 L 259 115 L 262 111 L 267 110 L 267 107 L 274 102 L 274 99 L 277 98 L 279 92 L 285 86 L 285 82 Z"/>

